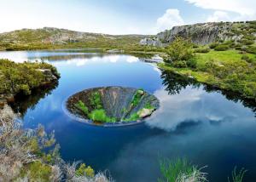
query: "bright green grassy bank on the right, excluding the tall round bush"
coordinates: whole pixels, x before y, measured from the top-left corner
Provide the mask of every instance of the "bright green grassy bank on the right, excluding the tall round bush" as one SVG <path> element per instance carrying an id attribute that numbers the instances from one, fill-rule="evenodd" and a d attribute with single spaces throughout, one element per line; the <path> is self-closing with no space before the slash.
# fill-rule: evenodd
<path id="1" fill-rule="evenodd" d="M 247 56 L 253 58 L 253 54 Z M 214 88 L 229 90 L 241 94 L 244 98 L 256 100 L 256 63 L 247 63 L 241 57 L 242 54 L 236 50 L 210 51 L 207 54 L 196 54 L 195 69 L 177 68 L 168 63 L 159 63 L 158 66 L 160 69 L 194 78 Z M 209 62 L 213 64 L 211 68 Z"/>

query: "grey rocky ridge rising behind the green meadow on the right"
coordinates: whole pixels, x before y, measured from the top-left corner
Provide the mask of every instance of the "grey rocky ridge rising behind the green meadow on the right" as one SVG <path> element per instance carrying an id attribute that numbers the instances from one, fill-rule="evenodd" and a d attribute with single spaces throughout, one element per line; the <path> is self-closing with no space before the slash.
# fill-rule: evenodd
<path id="1" fill-rule="evenodd" d="M 193 43 L 229 41 L 254 41 L 256 37 L 256 21 L 246 22 L 212 22 L 189 26 L 174 26 L 172 30 L 160 32 L 155 37 L 143 38 L 141 45 L 164 47 L 175 37 L 189 38 Z"/>

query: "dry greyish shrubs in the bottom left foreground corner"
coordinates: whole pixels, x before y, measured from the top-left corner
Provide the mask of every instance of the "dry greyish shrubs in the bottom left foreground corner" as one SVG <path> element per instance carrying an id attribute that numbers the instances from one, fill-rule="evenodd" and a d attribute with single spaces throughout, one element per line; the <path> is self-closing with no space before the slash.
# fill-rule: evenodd
<path id="1" fill-rule="evenodd" d="M 8 105 L 0 110 L 0 181 L 91 181 L 108 182 L 81 162 L 61 159 L 54 134 L 44 127 L 24 129 Z"/>

